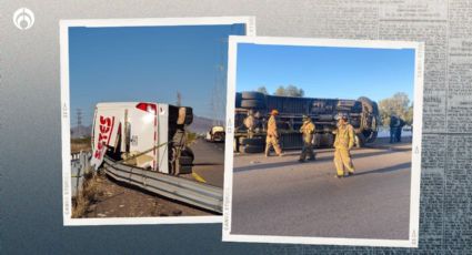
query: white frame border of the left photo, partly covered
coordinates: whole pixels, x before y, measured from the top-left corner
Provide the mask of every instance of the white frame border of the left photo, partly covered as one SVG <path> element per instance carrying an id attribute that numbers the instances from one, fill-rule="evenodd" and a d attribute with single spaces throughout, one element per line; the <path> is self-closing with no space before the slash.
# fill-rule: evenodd
<path id="1" fill-rule="evenodd" d="M 70 92 L 69 92 L 69 28 L 111 27 L 164 27 L 164 26 L 218 26 L 245 24 L 245 35 L 255 35 L 254 17 L 195 17 L 145 19 L 60 20 L 61 64 L 61 139 L 62 139 L 62 215 L 64 226 L 74 225 L 138 225 L 138 224 L 192 224 L 221 223 L 222 216 L 169 216 L 169 217 L 103 217 L 72 218 L 71 149 L 70 149 Z M 231 149 L 232 150 L 232 149 Z"/>

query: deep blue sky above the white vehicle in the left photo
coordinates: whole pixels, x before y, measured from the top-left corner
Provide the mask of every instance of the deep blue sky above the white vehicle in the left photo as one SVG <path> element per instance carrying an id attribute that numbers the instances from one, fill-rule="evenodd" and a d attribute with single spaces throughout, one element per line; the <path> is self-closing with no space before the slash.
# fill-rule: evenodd
<path id="1" fill-rule="evenodd" d="M 178 91 L 194 114 L 224 118 L 211 99 L 225 103 L 230 34 L 243 35 L 244 24 L 70 28 L 71 126 L 77 109 L 88 125 L 98 102 L 174 104 Z"/>

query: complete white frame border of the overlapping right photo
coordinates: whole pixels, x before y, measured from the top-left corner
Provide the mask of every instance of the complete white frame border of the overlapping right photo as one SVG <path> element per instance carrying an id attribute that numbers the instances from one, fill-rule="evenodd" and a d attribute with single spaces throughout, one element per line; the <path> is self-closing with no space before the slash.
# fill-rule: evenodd
<path id="1" fill-rule="evenodd" d="M 414 109 L 413 141 L 410 191 L 410 231 L 409 239 L 371 239 L 371 238 L 338 238 L 338 237 L 298 237 L 272 235 L 235 235 L 231 234 L 232 185 L 233 185 L 233 140 L 234 140 L 234 94 L 237 86 L 238 43 L 264 45 L 300 45 L 300 47 L 343 47 L 371 49 L 413 49 L 414 62 Z M 421 182 L 421 135 L 423 120 L 423 72 L 424 43 L 410 41 L 380 40 L 340 40 L 310 38 L 275 38 L 275 37 L 239 37 L 230 35 L 228 49 L 228 94 L 227 94 L 227 140 L 224 153 L 224 202 L 223 202 L 223 236 L 227 242 L 252 243 L 285 243 L 318 245 L 354 245 L 384 247 L 418 247 L 420 227 L 420 182 Z"/>

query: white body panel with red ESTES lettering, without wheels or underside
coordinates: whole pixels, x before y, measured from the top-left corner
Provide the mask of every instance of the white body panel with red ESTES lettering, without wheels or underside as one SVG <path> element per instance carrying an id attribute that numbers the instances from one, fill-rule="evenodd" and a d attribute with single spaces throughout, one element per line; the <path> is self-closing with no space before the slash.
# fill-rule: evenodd
<path id="1" fill-rule="evenodd" d="M 171 119 L 170 108 L 173 115 Z M 125 164 L 170 174 L 169 123 L 179 118 L 175 116 L 179 114 L 175 109 L 180 108 L 149 102 L 97 104 L 91 136 L 91 164 L 98 169 L 104 154 L 108 154 Z M 129 162 L 127 159 L 130 159 Z"/>

